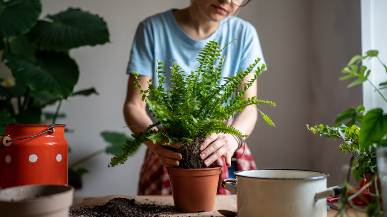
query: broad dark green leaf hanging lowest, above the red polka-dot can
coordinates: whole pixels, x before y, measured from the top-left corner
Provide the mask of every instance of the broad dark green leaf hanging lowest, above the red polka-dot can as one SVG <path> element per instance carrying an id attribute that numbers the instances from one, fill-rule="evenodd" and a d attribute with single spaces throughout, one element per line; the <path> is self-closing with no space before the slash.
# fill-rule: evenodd
<path id="1" fill-rule="evenodd" d="M 71 95 L 78 81 L 78 66 L 64 53 L 37 52 L 36 63 L 20 55 L 6 55 L 4 63 L 17 83 L 64 99 Z"/>

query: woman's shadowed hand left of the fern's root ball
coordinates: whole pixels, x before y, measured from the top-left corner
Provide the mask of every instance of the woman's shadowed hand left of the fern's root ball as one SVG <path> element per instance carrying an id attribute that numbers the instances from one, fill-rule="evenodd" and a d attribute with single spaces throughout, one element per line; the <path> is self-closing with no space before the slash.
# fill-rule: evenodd
<path id="1" fill-rule="evenodd" d="M 149 142 L 146 144 L 148 148 L 156 154 L 161 162 L 164 164 L 165 167 L 172 168 L 174 166 L 179 165 L 179 160 L 182 160 L 182 155 L 178 152 L 175 152 L 168 147 L 171 148 L 179 148 L 180 146 L 176 144 L 171 144 L 171 145 L 163 145 L 162 143 L 156 143 L 153 144 L 152 142 Z"/>

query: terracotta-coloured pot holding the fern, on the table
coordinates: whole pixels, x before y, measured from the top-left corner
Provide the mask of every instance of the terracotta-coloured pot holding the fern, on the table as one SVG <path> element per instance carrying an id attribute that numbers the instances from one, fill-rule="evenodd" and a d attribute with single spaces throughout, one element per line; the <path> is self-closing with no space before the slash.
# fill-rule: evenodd
<path id="1" fill-rule="evenodd" d="M 187 213 L 214 209 L 222 166 L 204 169 L 167 168 L 176 210 Z"/>

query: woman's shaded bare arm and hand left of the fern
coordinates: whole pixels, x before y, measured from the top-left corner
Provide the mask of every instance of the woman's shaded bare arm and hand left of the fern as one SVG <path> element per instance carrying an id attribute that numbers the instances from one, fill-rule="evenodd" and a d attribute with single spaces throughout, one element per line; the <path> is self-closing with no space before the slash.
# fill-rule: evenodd
<path id="1" fill-rule="evenodd" d="M 148 89 L 148 80 L 150 77 L 148 76 L 138 76 L 139 79 L 141 79 L 139 82 L 144 90 Z M 129 81 L 128 81 L 128 92 L 127 92 L 127 98 L 125 100 L 124 104 L 124 116 L 125 121 L 127 122 L 130 130 L 134 132 L 140 132 L 142 128 L 139 127 L 133 127 L 133 126 L 142 126 L 147 127 L 151 124 L 153 124 L 153 121 L 148 116 L 148 113 L 146 112 L 146 103 L 141 100 L 142 94 L 140 94 L 140 89 L 134 87 L 135 86 L 135 77 L 130 74 L 129 75 Z M 154 130 L 158 130 L 156 127 L 154 127 Z M 179 161 L 182 159 L 182 155 L 174 152 L 172 150 L 169 150 L 165 148 L 161 144 L 153 144 L 152 141 L 144 142 L 146 146 L 150 150 L 152 150 L 153 153 L 158 155 L 160 160 L 163 162 L 165 167 L 173 167 L 178 166 Z M 178 148 L 176 145 L 170 145 L 173 148 Z"/>

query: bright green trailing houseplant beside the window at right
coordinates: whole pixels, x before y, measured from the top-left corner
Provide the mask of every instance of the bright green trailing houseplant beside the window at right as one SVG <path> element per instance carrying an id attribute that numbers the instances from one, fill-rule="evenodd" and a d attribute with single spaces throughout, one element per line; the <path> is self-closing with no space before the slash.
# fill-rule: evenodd
<path id="1" fill-rule="evenodd" d="M 348 85 L 348 88 L 355 85 L 362 84 L 363 82 L 370 82 L 376 92 L 380 94 L 383 100 L 387 103 L 386 96 L 381 92 L 381 89 L 387 88 L 387 82 L 382 82 L 377 87 L 369 80 L 371 69 L 367 69 L 366 66 L 360 65 L 360 62 L 365 59 L 377 58 L 378 61 L 386 69 L 384 62 L 378 56 L 379 52 L 376 50 L 370 50 L 366 52 L 366 55 L 355 55 L 349 61 L 348 65 L 342 70 L 347 74 L 341 77 L 340 80 L 347 80 L 350 78 L 356 78 Z M 360 67 L 359 67 L 360 65 Z M 365 113 L 364 115 L 362 113 Z M 348 120 L 345 124 L 342 121 Z M 340 144 L 339 149 L 343 153 L 351 153 L 352 158 L 350 165 L 353 166 L 353 177 L 360 183 L 362 178 L 368 178 L 369 184 L 365 185 L 360 191 L 353 195 L 347 195 L 347 191 L 343 191 L 341 195 L 340 208 L 343 212 L 344 205 L 353 205 L 352 199 L 358 196 L 365 188 L 373 185 L 375 192 L 370 192 L 376 199 L 367 202 L 368 206 L 364 212 L 367 212 L 368 216 L 380 215 L 380 186 L 377 182 L 377 161 L 376 150 L 378 146 L 387 146 L 387 113 L 383 109 L 369 109 L 366 110 L 363 106 L 359 106 L 357 109 L 350 108 L 339 114 L 335 120 L 336 126 L 330 127 L 328 125 L 316 125 L 313 127 L 308 126 L 308 129 L 325 138 L 341 139 L 343 143 Z M 368 175 L 367 175 L 368 174 Z M 344 189 L 351 189 L 349 185 L 349 173 L 347 180 L 344 180 L 342 186 Z M 376 186 L 376 187 L 375 187 Z M 379 188 L 379 189 L 378 189 Z M 358 209 L 358 208 L 356 208 Z"/>

